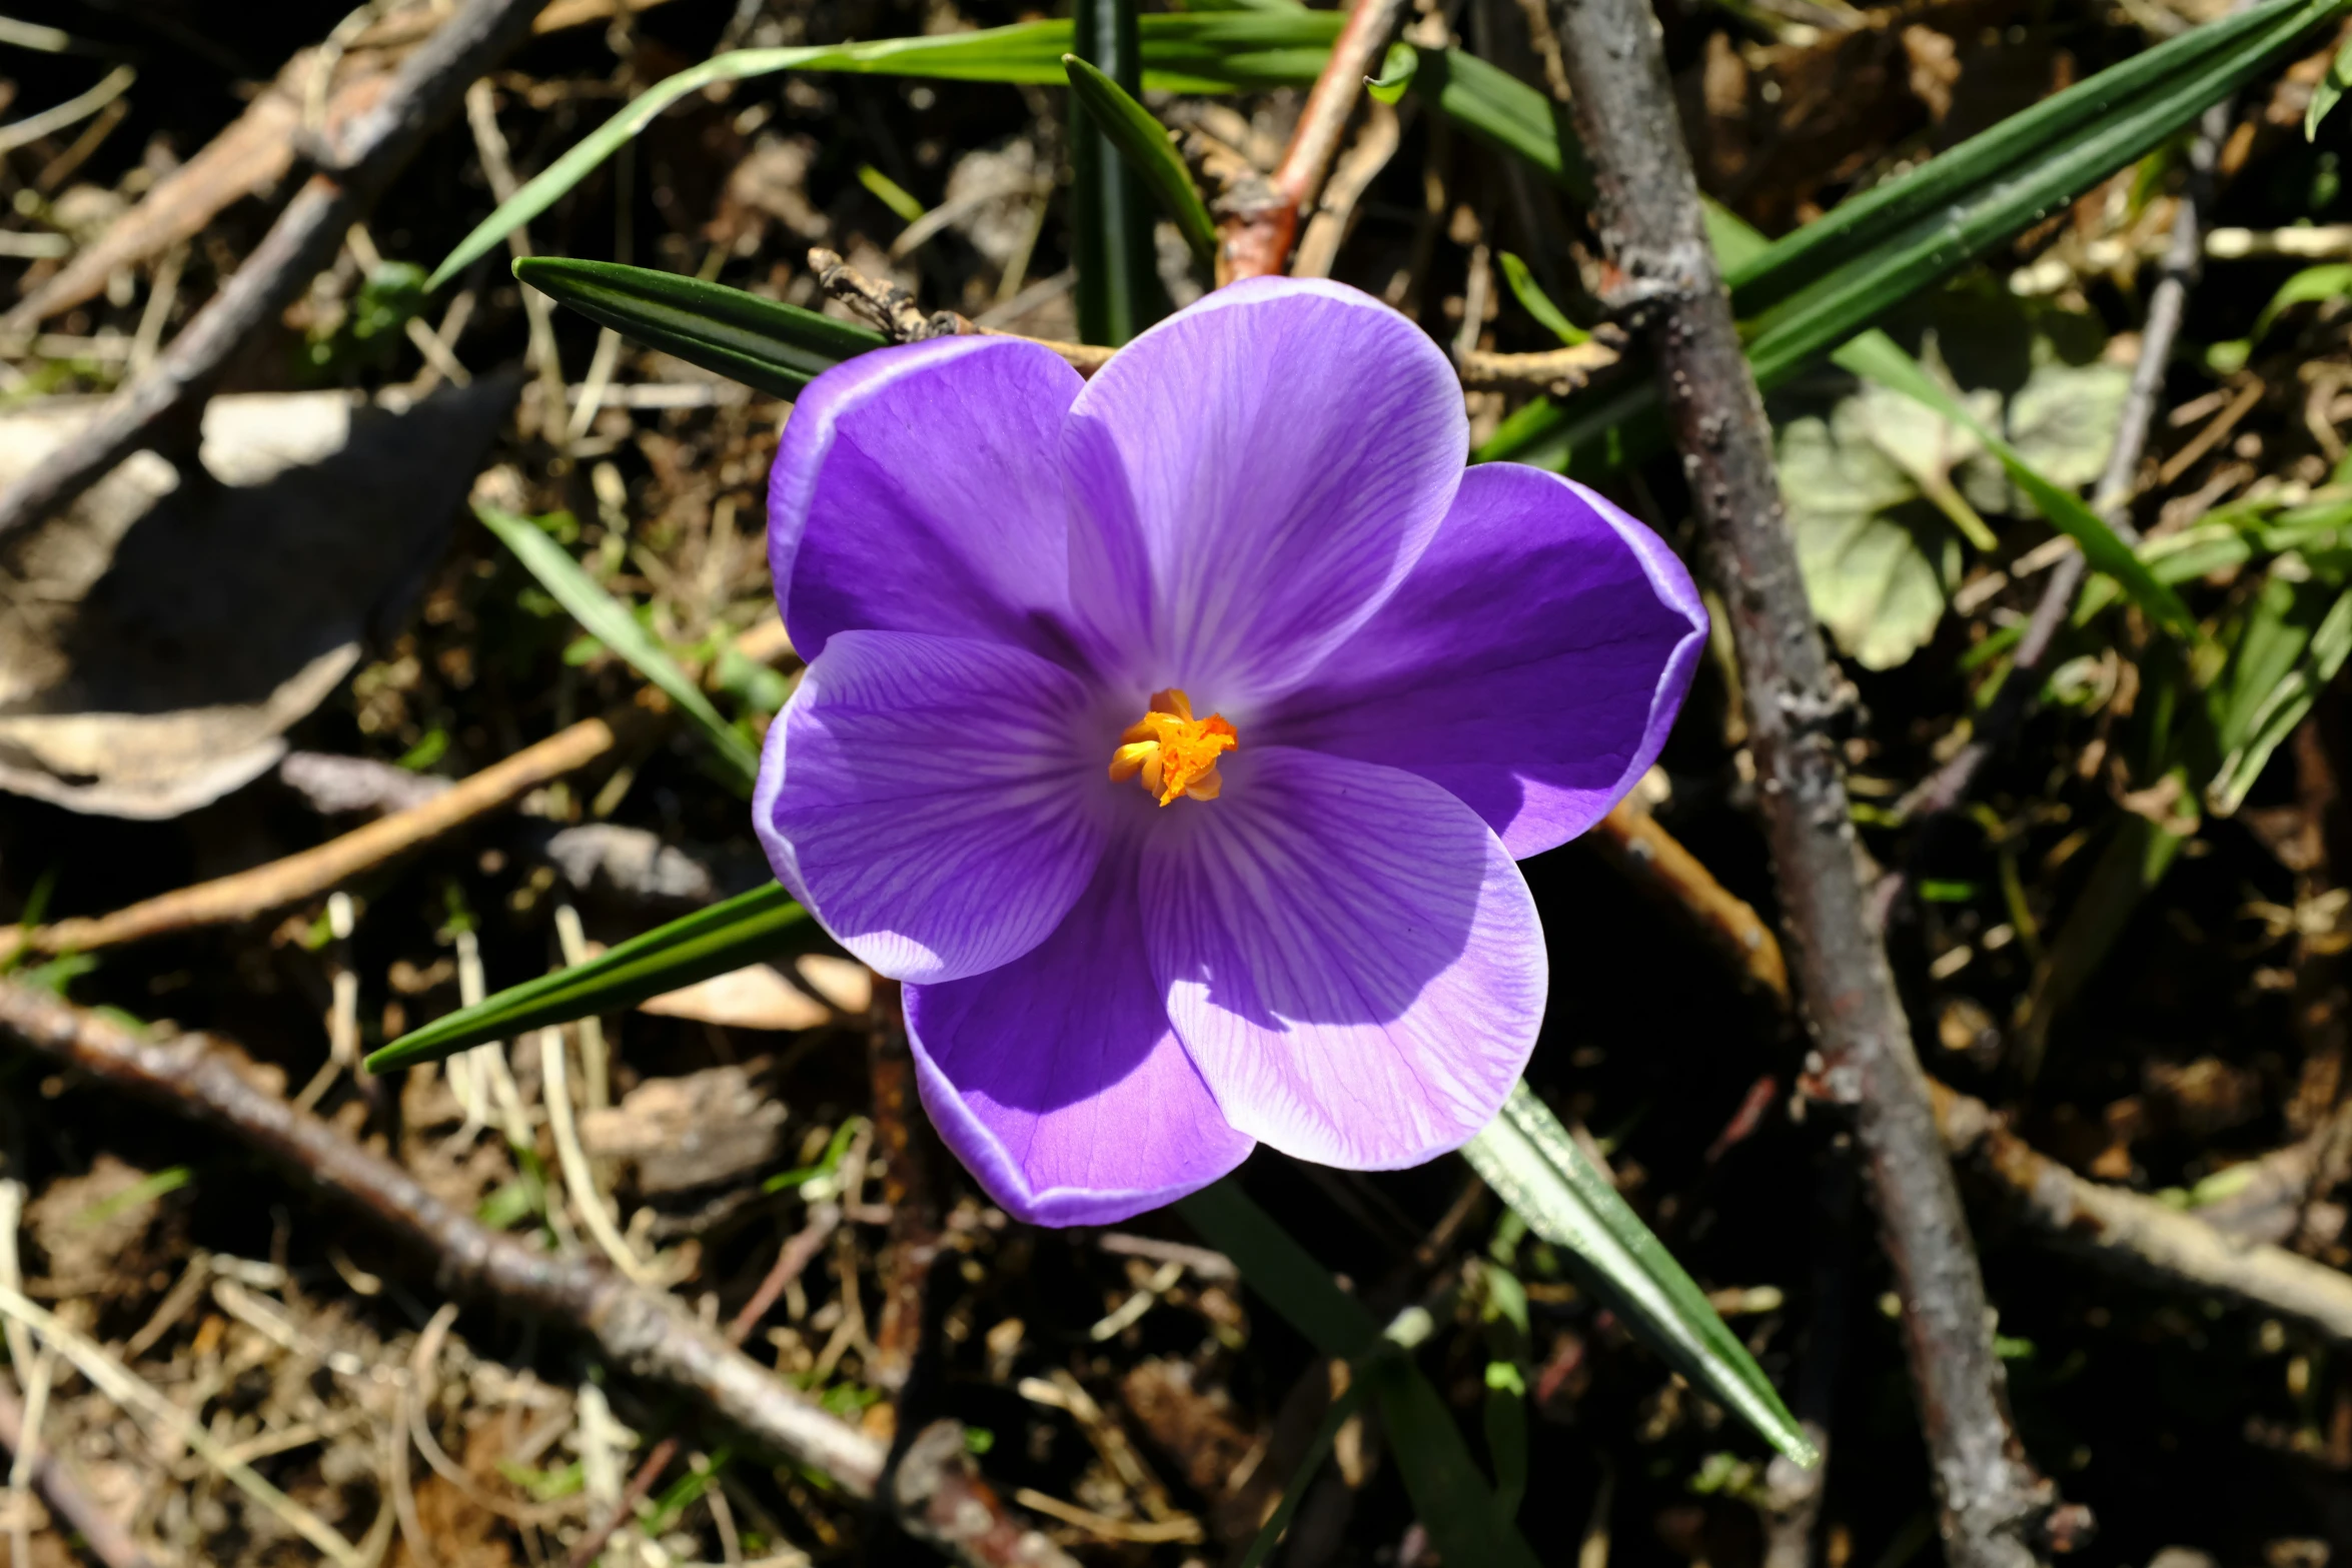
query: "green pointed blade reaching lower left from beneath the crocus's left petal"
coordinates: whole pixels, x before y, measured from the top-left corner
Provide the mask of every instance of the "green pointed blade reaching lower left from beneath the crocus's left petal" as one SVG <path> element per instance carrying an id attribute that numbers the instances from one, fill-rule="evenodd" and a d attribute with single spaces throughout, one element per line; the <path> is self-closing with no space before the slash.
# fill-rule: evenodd
<path id="1" fill-rule="evenodd" d="M 724 976 L 802 952 L 830 950 L 823 929 L 790 893 L 767 884 L 727 903 L 696 910 L 668 926 L 621 943 L 602 957 L 524 980 L 494 997 L 409 1030 L 367 1058 L 369 1072 L 414 1067 L 593 1013 L 616 1013 L 647 997 L 673 992 L 710 976 Z"/>

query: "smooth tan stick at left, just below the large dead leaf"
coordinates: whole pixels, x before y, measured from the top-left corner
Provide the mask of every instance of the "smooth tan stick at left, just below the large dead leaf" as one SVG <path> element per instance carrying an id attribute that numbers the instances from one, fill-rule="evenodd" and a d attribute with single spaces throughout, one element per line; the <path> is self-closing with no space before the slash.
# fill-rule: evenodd
<path id="1" fill-rule="evenodd" d="M 0 933 L 0 959 L 26 950 L 89 952 L 94 947 L 118 947 L 195 926 L 254 919 L 303 898 L 318 898 L 339 882 L 348 882 L 477 816 L 496 811 L 548 780 L 588 766 L 619 748 L 626 736 L 642 731 L 647 719 L 649 715 L 637 708 L 619 708 L 602 719 L 581 719 L 503 762 L 494 762 L 480 773 L 470 773 L 428 802 L 381 816 L 365 827 L 353 827 L 343 837 L 327 839 L 315 849 L 256 865 L 247 872 L 230 872 L 228 877 L 214 877 L 195 886 L 172 889 L 113 914 L 61 919 L 33 926 L 31 931 L 16 926 Z"/>

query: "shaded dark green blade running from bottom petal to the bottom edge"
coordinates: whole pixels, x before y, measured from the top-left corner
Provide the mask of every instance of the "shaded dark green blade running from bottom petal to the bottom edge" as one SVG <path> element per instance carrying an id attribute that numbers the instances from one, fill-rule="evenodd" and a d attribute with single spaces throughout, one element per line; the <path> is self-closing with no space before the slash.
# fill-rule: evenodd
<path id="1" fill-rule="evenodd" d="M 1526 1540 L 1496 1509 L 1494 1488 L 1470 1458 L 1470 1446 L 1463 1443 L 1444 1399 L 1409 1356 L 1383 1345 L 1383 1338 L 1390 1338 L 1402 1347 L 1411 1333 L 1383 1335 L 1364 1302 L 1341 1291 L 1329 1269 L 1249 1201 L 1232 1178 L 1183 1199 L 1176 1213 L 1209 1246 L 1232 1258 L 1242 1281 L 1317 1352 L 1357 1366 L 1371 1382 L 1388 1441 L 1397 1453 L 1397 1469 L 1404 1474 L 1404 1490 L 1444 1561 L 1536 1568 Z"/>

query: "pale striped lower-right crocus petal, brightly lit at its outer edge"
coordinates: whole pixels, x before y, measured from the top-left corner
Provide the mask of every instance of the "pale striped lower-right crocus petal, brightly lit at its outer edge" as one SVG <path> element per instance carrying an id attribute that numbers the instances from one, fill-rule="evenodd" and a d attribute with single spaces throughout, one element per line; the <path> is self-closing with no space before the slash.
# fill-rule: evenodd
<path id="1" fill-rule="evenodd" d="M 1381 1171 L 1494 1119 L 1536 1030 L 1543 926 L 1519 867 L 1425 778 L 1247 743 L 1143 853 L 1169 1018 L 1225 1119 Z"/>

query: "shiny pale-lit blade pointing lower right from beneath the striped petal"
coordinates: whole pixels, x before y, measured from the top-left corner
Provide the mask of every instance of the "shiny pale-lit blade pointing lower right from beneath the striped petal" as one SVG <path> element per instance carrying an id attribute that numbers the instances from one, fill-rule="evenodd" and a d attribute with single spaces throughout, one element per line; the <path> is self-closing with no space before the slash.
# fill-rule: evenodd
<path id="1" fill-rule="evenodd" d="M 1470 1140 L 1463 1157 L 1529 1229 L 1583 1265 L 1644 1345 L 1788 1458 L 1799 1465 L 1818 1460 L 1764 1368 L 1526 1084 L 1510 1091 L 1503 1114 Z"/>

